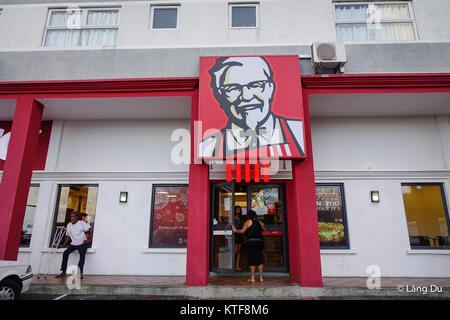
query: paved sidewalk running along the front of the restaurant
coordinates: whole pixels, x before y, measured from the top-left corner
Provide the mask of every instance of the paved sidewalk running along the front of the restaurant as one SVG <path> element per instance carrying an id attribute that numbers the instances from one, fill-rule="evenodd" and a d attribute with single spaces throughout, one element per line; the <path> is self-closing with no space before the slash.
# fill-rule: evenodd
<path id="1" fill-rule="evenodd" d="M 324 278 L 323 288 L 301 287 L 287 277 L 215 276 L 204 287 L 188 287 L 179 276 L 85 276 L 80 289 L 69 290 L 67 279 L 35 276 L 28 294 L 102 296 L 170 296 L 186 299 L 450 299 L 450 278 L 382 278 L 381 288 L 367 288 L 367 278 Z M 435 292 L 433 292 L 433 290 Z"/>

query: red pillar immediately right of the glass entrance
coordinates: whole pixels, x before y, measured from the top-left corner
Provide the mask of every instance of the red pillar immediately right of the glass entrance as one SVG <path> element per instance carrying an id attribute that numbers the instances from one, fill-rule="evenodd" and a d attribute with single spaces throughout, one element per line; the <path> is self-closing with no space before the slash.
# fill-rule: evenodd
<path id="1" fill-rule="evenodd" d="M 293 180 L 286 183 L 291 276 L 304 287 L 322 287 L 316 188 L 308 96 L 303 93 L 307 157 L 292 162 Z"/>

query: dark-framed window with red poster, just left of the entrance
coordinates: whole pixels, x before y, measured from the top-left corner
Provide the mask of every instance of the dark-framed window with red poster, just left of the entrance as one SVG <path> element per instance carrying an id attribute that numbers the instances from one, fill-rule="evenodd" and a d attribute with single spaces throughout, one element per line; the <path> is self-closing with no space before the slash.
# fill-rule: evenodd
<path id="1" fill-rule="evenodd" d="M 150 247 L 186 247 L 187 185 L 154 185 Z"/>

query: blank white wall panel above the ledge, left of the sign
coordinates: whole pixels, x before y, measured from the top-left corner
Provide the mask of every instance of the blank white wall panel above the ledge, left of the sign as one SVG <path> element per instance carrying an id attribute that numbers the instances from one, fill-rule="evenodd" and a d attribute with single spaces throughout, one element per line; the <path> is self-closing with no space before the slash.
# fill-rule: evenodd
<path id="1" fill-rule="evenodd" d="M 190 120 L 65 121 L 55 170 L 187 171 L 170 161 L 176 129 Z"/>

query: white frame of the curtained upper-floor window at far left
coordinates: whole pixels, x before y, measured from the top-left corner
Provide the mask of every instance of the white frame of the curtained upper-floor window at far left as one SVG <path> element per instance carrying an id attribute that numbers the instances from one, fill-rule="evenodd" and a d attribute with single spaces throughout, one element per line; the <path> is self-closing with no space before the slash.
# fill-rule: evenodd
<path id="1" fill-rule="evenodd" d="M 117 37 L 119 35 L 119 27 L 120 27 L 120 9 L 121 7 L 83 7 L 83 8 L 77 8 L 74 9 L 74 11 L 81 11 L 81 24 L 80 26 L 76 26 L 72 29 L 67 28 L 67 26 L 50 26 L 50 19 L 53 12 L 67 12 L 70 8 L 52 8 L 48 10 L 47 13 L 47 21 L 45 23 L 45 30 L 44 30 L 44 37 L 42 40 L 41 47 L 44 48 L 114 48 L 117 46 Z M 88 13 L 90 11 L 117 11 L 118 17 L 117 17 L 117 24 L 116 25 L 108 25 L 108 26 L 96 26 L 96 25 L 88 25 L 87 24 L 87 17 Z M 83 46 L 81 45 L 81 34 L 80 39 L 78 41 L 78 45 L 76 46 L 47 46 L 47 34 L 49 30 L 91 30 L 91 29 L 116 29 L 117 30 L 117 36 L 116 36 L 116 43 L 112 46 Z"/>

